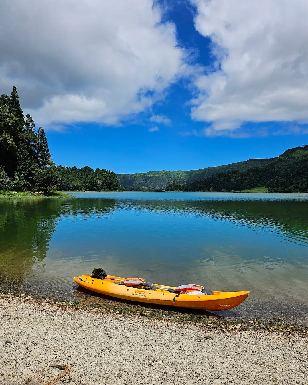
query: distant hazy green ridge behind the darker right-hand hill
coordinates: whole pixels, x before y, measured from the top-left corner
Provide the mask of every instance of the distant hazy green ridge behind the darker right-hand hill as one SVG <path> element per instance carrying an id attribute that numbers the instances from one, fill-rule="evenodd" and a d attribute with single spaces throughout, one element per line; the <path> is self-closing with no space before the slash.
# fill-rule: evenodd
<path id="1" fill-rule="evenodd" d="M 275 158 L 274 158 L 275 159 Z M 271 161 L 272 159 L 249 159 L 245 162 L 225 164 L 224 166 L 207 167 L 199 170 L 189 171 L 149 171 L 138 172 L 137 174 L 117 174 L 122 187 L 165 187 L 171 182 L 194 182 L 196 179 L 217 174 L 217 172 L 226 172 L 231 170 L 246 171 L 255 166 Z"/>

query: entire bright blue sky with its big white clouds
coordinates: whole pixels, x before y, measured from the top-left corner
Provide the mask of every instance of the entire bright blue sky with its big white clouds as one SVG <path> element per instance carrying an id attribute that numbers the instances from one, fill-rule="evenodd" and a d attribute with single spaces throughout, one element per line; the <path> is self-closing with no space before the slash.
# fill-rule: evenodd
<path id="1" fill-rule="evenodd" d="M 3 23 L 18 12 L 5 4 Z M 308 143 L 301 0 L 287 19 L 278 0 L 133 0 L 124 10 L 125 2 L 77 0 L 74 12 L 67 0 L 26 5 L 29 18 L 31 7 L 40 14 L 41 33 L 18 25 L 13 42 L 2 42 L 0 87 L 17 85 L 56 164 L 189 170 Z"/>

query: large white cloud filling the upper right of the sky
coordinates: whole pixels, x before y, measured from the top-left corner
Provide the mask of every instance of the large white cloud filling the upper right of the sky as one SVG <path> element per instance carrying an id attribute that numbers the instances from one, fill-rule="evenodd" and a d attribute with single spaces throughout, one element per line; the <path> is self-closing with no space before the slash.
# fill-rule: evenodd
<path id="1" fill-rule="evenodd" d="M 191 0 L 216 72 L 196 81 L 191 116 L 226 134 L 243 122 L 308 122 L 308 2 Z"/>

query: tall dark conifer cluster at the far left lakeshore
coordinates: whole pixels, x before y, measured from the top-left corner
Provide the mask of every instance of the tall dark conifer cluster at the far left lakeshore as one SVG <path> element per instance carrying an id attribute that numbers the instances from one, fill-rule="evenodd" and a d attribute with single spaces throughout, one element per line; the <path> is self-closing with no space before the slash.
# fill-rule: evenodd
<path id="1" fill-rule="evenodd" d="M 0 97 L 0 189 L 25 189 L 52 167 L 44 129 L 23 115 L 16 87 Z"/>

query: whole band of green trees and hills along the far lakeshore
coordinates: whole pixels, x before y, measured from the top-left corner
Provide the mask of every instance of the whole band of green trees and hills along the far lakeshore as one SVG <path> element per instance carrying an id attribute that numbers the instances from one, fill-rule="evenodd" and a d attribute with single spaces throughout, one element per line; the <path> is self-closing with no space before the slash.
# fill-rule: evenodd
<path id="1" fill-rule="evenodd" d="M 0 97 L 0 197 L 70 196 L 60 191 L 308 192 L 308 145 L 272 159 L 191 171 L 115 174 L 56 166 L 43 127 L 36 130 L 24 116 L 13 87 Z"/>

